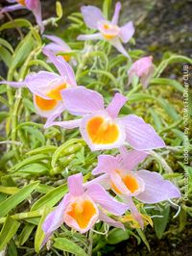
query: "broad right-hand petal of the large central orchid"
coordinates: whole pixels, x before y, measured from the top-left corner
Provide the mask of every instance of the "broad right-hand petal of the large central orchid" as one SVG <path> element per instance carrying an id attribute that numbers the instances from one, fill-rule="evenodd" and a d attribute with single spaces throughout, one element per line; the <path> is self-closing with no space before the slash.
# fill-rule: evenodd
<path id="1" fill-rule="evenodd" d="M 137 150 L 150 150 L 165 146 L 152 125 L 137 115 L 121 117 L 126 126 L 127 141 Z"/>

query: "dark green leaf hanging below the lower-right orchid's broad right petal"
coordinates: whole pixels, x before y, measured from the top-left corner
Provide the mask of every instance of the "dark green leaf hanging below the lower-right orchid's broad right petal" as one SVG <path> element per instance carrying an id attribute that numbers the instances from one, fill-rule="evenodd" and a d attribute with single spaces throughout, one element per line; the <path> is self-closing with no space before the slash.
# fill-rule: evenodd
<path id="1" fill-rule="evenodd" d="M 169 220 L 170 207 L 165 207 L 162 211 L 153 210 L 153 215 L 162 216 L 162 218 L 154 218 L 154 227 L 156 231 L 156 237 L 161 239 L 166 229 Z"/>

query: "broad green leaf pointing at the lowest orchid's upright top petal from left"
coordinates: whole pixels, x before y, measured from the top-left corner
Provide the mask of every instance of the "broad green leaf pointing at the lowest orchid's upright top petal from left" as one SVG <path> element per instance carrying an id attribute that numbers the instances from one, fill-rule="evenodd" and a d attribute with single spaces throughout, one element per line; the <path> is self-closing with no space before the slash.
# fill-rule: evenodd
<path id="1" fill-rule="evenodd" d="M 60 201 L 66 192 L 67 186 L 65 184 L 60 185 L 58 188 L 53 189 L 50 192 L 47 192 L 34 203 L 31 211 L 39 210 L 40 208 L 45 207 L 45 205 L 47 207 L 53 207 Z"/>

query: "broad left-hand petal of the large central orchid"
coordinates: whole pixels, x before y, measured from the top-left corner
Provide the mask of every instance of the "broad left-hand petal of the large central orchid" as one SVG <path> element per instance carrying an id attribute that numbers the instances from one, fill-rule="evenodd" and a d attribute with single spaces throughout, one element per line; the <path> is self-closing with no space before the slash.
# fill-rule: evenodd
<path id="1" fill-rule="evenodd" d="M 86 115 L 104 110 L 104 98 L 95 90 L 84 87 L 61 92 L 66 109 L 73 115 Z"/>

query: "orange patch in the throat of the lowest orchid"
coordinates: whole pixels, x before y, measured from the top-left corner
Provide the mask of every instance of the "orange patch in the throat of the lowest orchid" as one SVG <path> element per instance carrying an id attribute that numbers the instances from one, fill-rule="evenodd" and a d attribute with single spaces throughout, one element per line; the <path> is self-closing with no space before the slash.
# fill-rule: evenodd
<path id="1" fill-rule="evenodd" d="M 74 218 L 80 228 L 86 228 L 90 219 L 96 215 L 96 209 L 91 201 L 75 202 L 71 205 L 71 211 L 67 214 Z"/>

